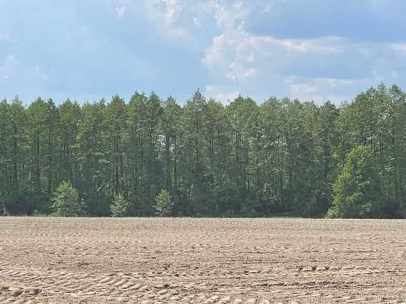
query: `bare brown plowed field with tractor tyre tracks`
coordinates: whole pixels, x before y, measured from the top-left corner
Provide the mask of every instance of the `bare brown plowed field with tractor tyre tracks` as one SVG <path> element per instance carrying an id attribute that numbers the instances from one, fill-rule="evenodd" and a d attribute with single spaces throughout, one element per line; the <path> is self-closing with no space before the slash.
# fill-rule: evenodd
<path id="1" fill-rule="evenodd" d="M 0 218 L 0 303 L 406 302 L 406 221 Z"/>

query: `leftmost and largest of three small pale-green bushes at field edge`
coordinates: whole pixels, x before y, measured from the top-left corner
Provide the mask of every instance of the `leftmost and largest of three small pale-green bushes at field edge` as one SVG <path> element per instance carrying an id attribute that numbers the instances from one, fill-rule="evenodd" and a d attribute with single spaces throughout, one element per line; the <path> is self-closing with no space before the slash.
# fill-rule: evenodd
<path id="1" fill-rule="evenodd" d="M 53 216 L 80 217 L 86 215 L 86 205 L 70 181 L 62 181 L 55 189 L 51 209 Z"/>

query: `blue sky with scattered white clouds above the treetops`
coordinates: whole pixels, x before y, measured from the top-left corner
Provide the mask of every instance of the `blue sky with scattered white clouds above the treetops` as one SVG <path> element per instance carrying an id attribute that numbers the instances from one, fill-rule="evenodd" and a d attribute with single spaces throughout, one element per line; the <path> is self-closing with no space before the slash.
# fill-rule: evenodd
<path id="1" fill-rule="evenodd" d="M 0 98 L 340 104 L 406 89 L 403 0 L 0 0 Z"/>

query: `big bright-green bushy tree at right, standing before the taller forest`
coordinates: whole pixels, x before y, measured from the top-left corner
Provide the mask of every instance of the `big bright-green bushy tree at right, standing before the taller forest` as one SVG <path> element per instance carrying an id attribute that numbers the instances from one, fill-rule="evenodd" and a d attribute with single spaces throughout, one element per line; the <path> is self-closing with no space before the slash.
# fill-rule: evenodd
<path id="1" fill-rule="evenodd" d="M 347 156 L 343 171 L 333 184 L 331 218 L 366 218 L 380 216 L 384 197 L 381 176 L 375 165 L 374 150 L 370 146 L 356 145 Z"/>

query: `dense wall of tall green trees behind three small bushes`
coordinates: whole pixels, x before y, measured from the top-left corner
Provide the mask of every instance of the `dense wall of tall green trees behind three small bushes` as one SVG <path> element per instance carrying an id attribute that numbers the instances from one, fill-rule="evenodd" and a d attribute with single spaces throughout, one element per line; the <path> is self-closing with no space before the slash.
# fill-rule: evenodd
<path id="1" fill-rule="evenodd" d="M 129 216 L 154 215 L 166 191 L 172 215 L 406 217 L 405 96 L 381 84 L 341 106 L 224 106 L 199 90 L 183 105 L 154 92 L 4 99 L 0 214 L 50 213 L 67 182 L 91 216 L 110 216 L 115 199 Z"/>

